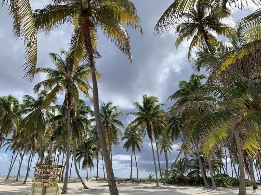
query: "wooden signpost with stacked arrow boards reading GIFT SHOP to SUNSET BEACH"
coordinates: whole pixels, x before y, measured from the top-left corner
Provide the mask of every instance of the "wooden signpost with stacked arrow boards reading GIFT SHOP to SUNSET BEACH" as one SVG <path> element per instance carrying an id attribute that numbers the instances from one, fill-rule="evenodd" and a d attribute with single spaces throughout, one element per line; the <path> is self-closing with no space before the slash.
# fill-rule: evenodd
<path id="1" fill-rule="evenodd" d="M 62 170 L 58 168 L 62 168 L 62 165 L 51 165 L 51 156 L 52 156 L 52 148 L 53 148 L 54 137 L 51 136 L 48 160 L 45 161 L 45 164 L 37 164 L 34 172 L 34 177 L 32 185 L 33 186 L 43 186 L 42 195 L 45 195 L 47 186 L 57 186 L 57 181 L 59 179 L 54 179 L 50 177 L 60 177 L 62 174 L 60 172 Z"/>

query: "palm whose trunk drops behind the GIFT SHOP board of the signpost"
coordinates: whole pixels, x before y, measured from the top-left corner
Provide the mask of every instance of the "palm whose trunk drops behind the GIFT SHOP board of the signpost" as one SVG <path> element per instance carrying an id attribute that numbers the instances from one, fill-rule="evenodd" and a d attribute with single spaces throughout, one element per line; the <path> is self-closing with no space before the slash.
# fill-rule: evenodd
<path id="1" fill-rule="evenodd" d="M 36 129 L 39 132 L 40 137 L 40 164 L 43 164 L 43 136 L 45 135 L 46 128 L 50 128 L 48 119 L 52 117 L 50 112 L 52 103 L 55 99 L 46 104 L 47 91 L 41 90 L 37 93 L 37 98 L 30 95 L 23 96 L 23 104 L 21 114 L 26 114 L 27 116 L 21 121 L 21 126 L 25 127 L 30 134 Z"/>

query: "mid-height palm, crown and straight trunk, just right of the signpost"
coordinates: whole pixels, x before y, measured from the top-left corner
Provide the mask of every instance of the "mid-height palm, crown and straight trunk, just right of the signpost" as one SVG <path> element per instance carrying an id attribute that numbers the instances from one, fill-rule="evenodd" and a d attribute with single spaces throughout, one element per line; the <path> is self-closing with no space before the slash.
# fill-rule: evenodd
<path id="1" fill-rule="evenodd" d="M 70 110 L 73 107 L 77 109 L 79 102 L 79 91 L 84 94 L 86 98 L 92 99 L 89 94 L 89 90 L 92 87 L 89 85 L 89 77 L 91 70 L 88 64 L 81 64 L 81 61 L 74 56 L 75 51 L 61 50 L 61 53 L 65 56 L 65 60 L 61 56 L 54 53 L 49 53 L 52 62 L 55 64 L 55 69 L 43 67 L 37 68 L 36 73 L 46 73 L 46 80 L 36 84 L 34 90 L 38 91 L 41 86 L 50 90 L 50 93 L 46 97 L 45 105 L 56 99 L 58 94 L 65 92 L 65 98 L 62 105 L 63 122 L 65 119 L 70 119 Z M 97 74 L 100 79 L 100 75 Z M 74 112 L 76 114 L 76 112 Z M 73 116 L 74 118 L 76 115 Z M 66 145 L 66 172 L 63 185 L 63 193 L 67 192 L 68 173 L 69 173 L 69 152 L 70 150 L 70 134 L 71 123 L 67 120 L 67 145 Z"/>

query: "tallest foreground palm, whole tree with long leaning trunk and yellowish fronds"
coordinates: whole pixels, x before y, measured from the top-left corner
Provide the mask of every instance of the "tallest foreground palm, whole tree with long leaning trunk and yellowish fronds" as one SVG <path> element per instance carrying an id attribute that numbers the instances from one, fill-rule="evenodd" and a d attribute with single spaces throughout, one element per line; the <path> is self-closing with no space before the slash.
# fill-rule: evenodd
<path id="1" fill-rule="evenodd" d="M 54 5 L 47 5 L 44 9 L 35 10 L 35 25 L 38 31 L 51 30 L 61 23 L 73 23 L 74 31 L 70 47 L 76 49 L 74 55 L 77 59 L 81 60 L 85 57 L 90 63 L 97 132 L 105 159 L 111 193 L 118 194 L 99 110 L 95 67 L 95 60 L 100 57 L 97 52 L 97 28 L 101 28 L 108 39 L 115 43 L 116 47 L 128 55 L 129 60 L 132 61 L 130 38 L 124 25 L 134 29 L 138 28 L 142 33 L 139 17 L 136 14 L 134 4 L 131 1 L 123 0 L 90 0 L 85 3 L 55 0 Z M 50 33 L 49 30 L 45 33 Z"/>

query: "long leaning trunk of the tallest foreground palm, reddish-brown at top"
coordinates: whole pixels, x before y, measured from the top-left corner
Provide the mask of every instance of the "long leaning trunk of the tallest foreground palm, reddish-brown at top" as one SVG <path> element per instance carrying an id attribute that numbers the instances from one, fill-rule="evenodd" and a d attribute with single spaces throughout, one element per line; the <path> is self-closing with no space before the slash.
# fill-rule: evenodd
<path id="1" fill-rule="evenodd" d="M 91 40 L 91 28 L 92 22 L 89 20 L 89 16 L 87 16 L 87 13 L 82 19 L 82 26 L 86 28 L 82 28 L 82 35 L 84 37 L 85 47 L 87 50 L 87 55 L 89 57 L 89 63 L 91 68 L 91 74 L 92 74 L 92 87 L 93 87 L 93 107 L 94 107 L 94 114 L 95 114 L 95 120 L 96 120 L 96 126 L 97 126 L 97 134 L 99 137 L 100 146 L 102 148 L 104 161 L 105 161 L 105 167 L 106 167 L 106 173 L 109 181 L 109 189 L 111 195 L 118 195 L 118 189 L 116 186 L 116 181 L 114 177 L 114 172 L 112 169 L 111 161 L 110 161 L 110 155 L 109 151 L 106 146 L 106 140 L 104 135 L 104 130 L 102 126 L 102 119 L 100 116 L 100 108 L 99 108 L 99 94 L 98 94 L 98 85 L 97 85 L 97 79 L 96 79 L 96 68 L 95 68 L 95 62 L 94 62 L 94 53 L 93 53 L 93 46 L 92 46 L 92 40 Z"/>

